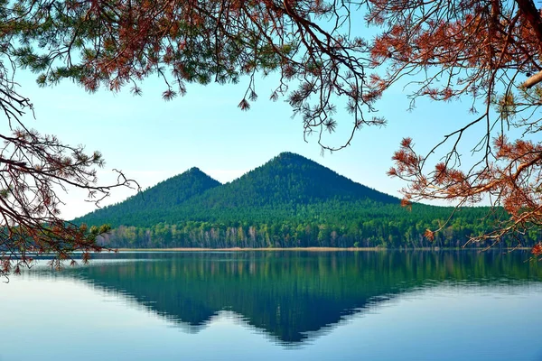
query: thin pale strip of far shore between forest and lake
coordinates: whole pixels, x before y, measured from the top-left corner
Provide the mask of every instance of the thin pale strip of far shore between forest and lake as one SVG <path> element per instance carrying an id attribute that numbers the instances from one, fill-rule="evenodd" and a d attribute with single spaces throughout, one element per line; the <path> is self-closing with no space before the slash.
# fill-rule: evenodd
<path id="1" fill-rule="evenodd" d="M 422 248 L 383 248 L 383 247 L 290 247 L 290 248 L 117 248 L 118 252 L 269 252 L 269 251 L 308 251 L 308 252 L 387 252 L 387 251 L 483 251 L 486 248 L 444 248 L 444 247 L 422 247 Z M 489 251 L 502 250 L 530 250 L 530 247 L 488 249 Z"/>

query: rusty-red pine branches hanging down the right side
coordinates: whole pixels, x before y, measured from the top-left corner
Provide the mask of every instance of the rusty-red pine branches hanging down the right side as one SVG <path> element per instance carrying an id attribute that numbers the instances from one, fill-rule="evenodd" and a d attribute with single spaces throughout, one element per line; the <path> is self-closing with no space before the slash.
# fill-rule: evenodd
<path id="1" fill-rule="evenodd" d="M 386 68 L 385 75 L 372 77 L 373 84 L 384 91 L 397 79 L 418 74 L 410 95 L 413 104 L 417 97 L 436 101 L 467 97 L 475 114 L 427 155 L 416 153 L 410 138 L 403 141 L 389 175 L 408 182 L 403 190 L 406 202 L 450 199 L 462 206 L 486 199 L 503 206 L 506 217 L 473 240 L 499 242 L 504 235 L 538 230 L 542 15 L 534 2 L 370 3 L 367 19 L 383 30 L 371 44 L 371 59 Z M 460 142 L 479 124 L 484 133 L 472 149 L 479 156 L 471 168 L 462 169 Z M 519 128 L 520 139 L 507 137 L 514 128 Z M 449 153 L 433 160 L 436 148 L 447 143 Z"/>

